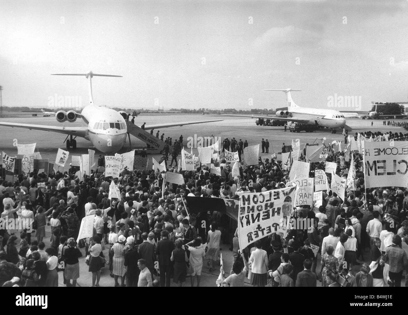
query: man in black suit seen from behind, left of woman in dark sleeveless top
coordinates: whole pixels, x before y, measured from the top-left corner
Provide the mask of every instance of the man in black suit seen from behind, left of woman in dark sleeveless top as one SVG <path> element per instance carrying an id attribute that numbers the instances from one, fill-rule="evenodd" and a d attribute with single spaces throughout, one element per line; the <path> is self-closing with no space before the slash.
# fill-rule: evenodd
<path id="1" fill-rule="evenodd" d="M 174 249 L 174 244 L 168 239 L 169 232 L 166 230 L 162 231 L 160 235 L 162 236 L 162 239 L 157 242 L 156 247 L 156 256 L 160 268 L 160 286 L 170 286 L 172 266 L 170 257 Z M 166 283 L 164 283 L 164 281 L 166 281 Z"/>

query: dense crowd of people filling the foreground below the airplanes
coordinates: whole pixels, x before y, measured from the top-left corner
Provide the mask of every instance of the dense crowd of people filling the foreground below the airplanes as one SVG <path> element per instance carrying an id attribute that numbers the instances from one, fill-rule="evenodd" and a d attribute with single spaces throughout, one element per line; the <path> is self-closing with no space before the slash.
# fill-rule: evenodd
<path id="1" fill-rule="evenodd" d="M 376 133 L 362 136 L 368 139 L 372 134 Z M 226 140 L 222 151 L 247 146 L 246 141 L 232 146 Z M 253 286 L 316 286 L 317 281 L 322 286 L 401 286 L 408 266 L 406 189 L 365 189 L 358 151 L 344 166 L 340 166 L 344 151 L 327 153 L 326 161 L 337 163 L 336 174 L 341 177 L 347 175 L 350 163 L 355 164 L 356 190 L 341 197 L 324 191 L 322 206 L 293 211 L 295 218 L 313 219 L 313 226 L 290 230 L 286 237 L 275 233 L 242 251 L 236 221 L 213 209 L 189 214 L 184 196 L 239 200 L 243 193 L 283 188 L 289 182 L 287 163 L 259 161 L 241 167 L 240 176 L 233 177 L 221 156 L 221 175 L 210 173 L 208 166 L 181 171 L 185 184 L 171 184 L 164 191 L 164 174 L 158 170 L 125 169 L 113 180 L 120 197 L 111 199 L 112 179 L 99 169 L 103 157 L 82 181 L 68 172 L 0 180 L 1 217 L 32 219 L 35 231 L 0 230 L 0 286 L 58 286 L 60 277 L 66 286 L 76 286 L 80 259 L 89 265 L 92 286 L 100 286 L 104 268 L 109 268 L 113 286 L 170 286 L 172 278 L 184 286 L 187 275 L 191 286 L 200 286 L 203 262 L 208 260 L 210 272 L 216 268 L 220 244 L 230 244 L 233 252 L 230 275 L 221 282 L 224 286 L 244 286 L 246 277 Z M 325 162 L 311 163 L 310 177 L 316 169 L 324 170 Z M 77 244 L 80 222 L 88 215 L 94 215 L 93 236 Z M 197 224 L 203 215 L 211 222 L 208 231 Z M 46 248 L 47 225 L 51 237 Z M 317 254 L 312 250 L 316 247 Z"/>

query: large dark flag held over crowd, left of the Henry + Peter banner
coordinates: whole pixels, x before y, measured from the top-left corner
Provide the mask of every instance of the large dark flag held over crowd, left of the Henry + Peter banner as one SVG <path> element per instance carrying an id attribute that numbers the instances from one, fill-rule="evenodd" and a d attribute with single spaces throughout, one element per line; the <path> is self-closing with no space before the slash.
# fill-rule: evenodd
<path id="1" fill-rule="evenodd" d="M 238 221 L 239 200 L 206 197 L 185 197 L 190 213 L 218 211 Z"/>

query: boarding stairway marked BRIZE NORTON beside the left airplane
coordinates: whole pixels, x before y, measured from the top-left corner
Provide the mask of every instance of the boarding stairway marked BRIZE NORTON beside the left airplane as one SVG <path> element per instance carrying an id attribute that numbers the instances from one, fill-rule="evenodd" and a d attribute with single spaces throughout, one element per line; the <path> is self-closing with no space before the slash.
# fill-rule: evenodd
<path id="1" fill-rule="evenodd" d="M 129 138 L 129 149 L 132 150 L 132 144 L 130 140 L 130 135 L 134 135 L 137 139 L 142 140 L 144 143 L 149 145 L 150 147 L 144 147 L 144 148 L 135 148 L 134 150 L 136 151 L 135 153 L 140 153 L 142 149 L 145 149 L 145 151 L 148 154 L 160 154 L 164 152 L 164 146 L 166 145 L 166 142 L 160 140 L 159 138 L 156 138 L 154 135 L 151 133 L 144 131 L 142 128 L 139 126 L 136 126 L 135 124 L 132 124 L 130 121 L 126 121 L 126 126 L 127 126 L 127 133 L 128 133 L 128 138 Z M 169 145 L 169 152 L 173 150 L 173 147 Z"/>

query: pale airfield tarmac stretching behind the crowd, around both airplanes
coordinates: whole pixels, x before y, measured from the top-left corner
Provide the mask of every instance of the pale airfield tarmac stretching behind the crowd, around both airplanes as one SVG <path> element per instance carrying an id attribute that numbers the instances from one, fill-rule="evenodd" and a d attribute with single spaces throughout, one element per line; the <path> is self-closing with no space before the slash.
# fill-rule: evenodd
<path id="1" fill-rule="evenodd" d="M 164 139 L 168 136 L 175 139 L 179 139 L 180 135 L 183 135 L 184 145 L 188 141 L 188 137 L 221 137 L 232 139 L 233 137 L 239 141 L 247 140 L 249 145 L 258 144 L 261 142 L 262 138 L 268 139 L 270 142 L 269 153 L 277 153 L 281 151 L 282 143 L 290 145 L 292 139 L 299 139 L 301 143 L 313 143 L 317 141 L 321 143 L 321 139 L 326 137 L 326 144 L 333 140 L 344 140 L 344 136 L 337 132 L 336 134 L 330 133 L 329 129 L 322 129 L 313 133 L 306 133 L 304 131 L 300 133 L 290 133 L 289 128 L 286 133 L 284 132 L 283 126 L 272 127 L 272 126 L 257 126 L 255 124 L 255 119 L 253 118 L 241 118 L 241 117 L 223 117 L 220 115 L 139 115 L 135 118 L 135 124 L 138 126 L 146 122 L 149 124 L 160 124 L 160 123 L 171 123 L 176 121 L 197 121 L 197 120 L 211 120 L 211 119 L 223 119 L 221 122 L 205 123 L 205 124 L 195 124 L 178 126 L 171 128 L 164 128 L 160 130 L 160 135 L 164 133 Z M 2 118 L 1 121 L 15 122 L 15 123 L 25 123 L 25 124 L 41 124 L 48 126 L 83 126 L 82 121 L 79 119 L 76 122 L 69 123 L 65 122 L 63 124 L 58 123 L 55 117 L 14 117 L 14 118 Z M 406 121 L 406 120 L 395 120 L 395 121 Z M 371 127 L 371 122 L 374 122 L 373 127 Z M 384 126 L 382 120 L 361 120 L 361 119 L 348 119 L 346 124 L 350 126 L 353 131 L 349 133 L 354 135 L 355 132 L 361 131 L 381 131 L 387 132 L 406 132 L 402 127 Z M 157 130 L 154 130 L 155 135 Z M 13 140 L 17 139 L 18 143 L 27 144 L 37 142 L 36 150 L 40 151 L 43 159 L 49 159 L 50 162 L 55 161 L 55 155 L 58 148 L 65 150 L 65 144 L 63 143 L 65 135 L 59 133 L 52 133 L 48 131 L 34 131 L 29 129 L 11 128 L 0 126 L 0 149 L 9 155 L 16 155 L 17 148 L 13 146 Z M 317 139 L 317 140 L 316 140 Z M 77 138 L 77 149 L 69 149 L 70 155 L 80 155 L 88 153 L 88 149 L 91 148 L 91 142 L 83 139 Z M 143 142 L 137 138 L 131 136 L 131 142 L 133 148 L 145 146 Z M 120 152 L 126 152 L 128 148 L 128 140 L 124 148 Z M 190 151 L 190 149 L 188 149 Z M 197 154 L 197 149 L 193 149 L 193 153 Z M 96 152 L 95 155 L 98 157 L 101 152 Z M 260 151 L 260 155 L 261 151 Z M 160 158 L 158 155 L 149 155 L 149 157 Z M 71 162 L 71 158 L 69 158 Z M 151 165 L 151 159 L 149 159 L 149 166 Z M 64 170 L 68 170 L 68 165 L 65 166 Z"/>

